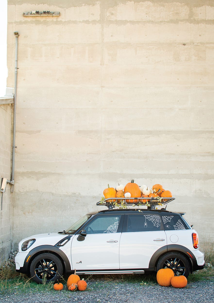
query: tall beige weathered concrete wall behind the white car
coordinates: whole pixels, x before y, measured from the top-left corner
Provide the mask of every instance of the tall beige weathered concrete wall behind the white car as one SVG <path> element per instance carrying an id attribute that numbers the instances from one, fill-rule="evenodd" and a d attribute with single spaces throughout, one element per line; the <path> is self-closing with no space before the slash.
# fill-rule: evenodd
<path id="1" fill-rule="evenodd" d="M 13 245 L 67 228 L 109 183 L 161 183 L 214 241 L 214 4 L 8 0 L 18 38 Z M 60 4 L 59 4 L 60 3 Z M 23 17 L 32 10 L 59 17 Z"/>

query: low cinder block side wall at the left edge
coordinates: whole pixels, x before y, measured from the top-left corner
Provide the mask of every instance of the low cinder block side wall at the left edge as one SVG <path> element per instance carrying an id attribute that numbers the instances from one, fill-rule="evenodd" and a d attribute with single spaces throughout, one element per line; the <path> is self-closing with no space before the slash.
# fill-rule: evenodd
<path id="1" fill-rule="evenodd" d="M 0 184 L 2 178 L 10 180 L 11 170 L 11 105 L 0 105 Z M 11 193 L 10 185 L 0 198 L 0 266 L 11 251 Z M 2 205 L 1 205 L 2 201 Z"/>

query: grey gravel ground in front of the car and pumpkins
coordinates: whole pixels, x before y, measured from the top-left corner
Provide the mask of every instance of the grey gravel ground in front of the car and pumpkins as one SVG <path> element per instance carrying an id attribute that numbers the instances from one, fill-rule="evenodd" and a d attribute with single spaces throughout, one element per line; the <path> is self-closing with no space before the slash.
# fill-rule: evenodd
<path id="1" fill-rule="evenodd" d="M 86 291 L 12 293 L 0 295 L 1 303 L 212 303 L 214 302 L 214 277 L 199 282 L 189 282 L 185 288 L 140 285 L 130 282 L 88 281 Z"/>

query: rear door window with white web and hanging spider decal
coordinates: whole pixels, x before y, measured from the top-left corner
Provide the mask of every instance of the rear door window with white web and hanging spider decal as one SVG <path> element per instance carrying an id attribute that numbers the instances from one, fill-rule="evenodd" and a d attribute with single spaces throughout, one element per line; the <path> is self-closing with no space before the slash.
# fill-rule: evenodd
<path id="1" fill-rule="evenodd" d="M 159 215 L 128 215 L 127 232 L 159 231 L 160 229 Z"/>

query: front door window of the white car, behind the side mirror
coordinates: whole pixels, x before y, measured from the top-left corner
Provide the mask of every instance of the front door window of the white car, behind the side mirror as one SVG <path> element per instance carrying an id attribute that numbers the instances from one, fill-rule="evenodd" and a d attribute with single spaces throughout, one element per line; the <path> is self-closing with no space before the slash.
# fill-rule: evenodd
<path id="1" fill-rule="evenodd" d="M 121 215 L 98 216 L 85 227 L 87 234 L 109 234 L 118 230 Z"/>

